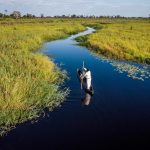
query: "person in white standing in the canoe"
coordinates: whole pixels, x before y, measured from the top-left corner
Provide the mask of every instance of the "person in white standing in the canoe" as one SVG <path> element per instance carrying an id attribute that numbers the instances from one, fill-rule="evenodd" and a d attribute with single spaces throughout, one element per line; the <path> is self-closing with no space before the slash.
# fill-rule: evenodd
<path id="1" fill-rule="evenodd" d="M 86 79 L 86 88 L 90 90 L 92 77 L 91 71 L 87 68 L 82 69 L 81 80 L 83 80 L 84 78 Z"/>

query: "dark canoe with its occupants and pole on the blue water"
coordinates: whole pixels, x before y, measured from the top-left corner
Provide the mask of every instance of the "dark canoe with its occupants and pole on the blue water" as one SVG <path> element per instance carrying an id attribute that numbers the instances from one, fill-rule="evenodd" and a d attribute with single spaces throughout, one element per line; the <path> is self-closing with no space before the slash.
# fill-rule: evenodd
<path id="1" fill-rule="evenodd" d="M 91 71 L 88 68 L 85 68 L 83 64 L 82 69 L 77 69 L 77 75 L 81 82 L 81 89 L 83 88 L 86 93 L 94 95 L 94 90 L 91 85 Z"/>

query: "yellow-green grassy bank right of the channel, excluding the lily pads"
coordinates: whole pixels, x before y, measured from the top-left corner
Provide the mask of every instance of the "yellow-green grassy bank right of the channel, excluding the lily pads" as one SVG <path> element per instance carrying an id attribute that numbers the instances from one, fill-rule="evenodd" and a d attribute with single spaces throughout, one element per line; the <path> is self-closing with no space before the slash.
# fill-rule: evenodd
<path id="1" fill-rule="evenodd" d="M 110 20 L 90 24 L 97 29 L 77 40 L 109 58 L 150 64 L 149 20 Z"/>

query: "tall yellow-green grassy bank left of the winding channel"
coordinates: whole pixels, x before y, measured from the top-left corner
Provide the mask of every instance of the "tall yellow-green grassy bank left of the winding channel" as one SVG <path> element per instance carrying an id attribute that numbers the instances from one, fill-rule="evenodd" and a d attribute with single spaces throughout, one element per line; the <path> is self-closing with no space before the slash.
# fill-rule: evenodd
<path id="1" fill-rule="evenodd" d="M 53 109 L 67 95 L 65 73 L 48 57 L 33 53 L 44 41 L 64 38 L 85 28 L 69 21 L 0 21 L 0 134 Z"/>

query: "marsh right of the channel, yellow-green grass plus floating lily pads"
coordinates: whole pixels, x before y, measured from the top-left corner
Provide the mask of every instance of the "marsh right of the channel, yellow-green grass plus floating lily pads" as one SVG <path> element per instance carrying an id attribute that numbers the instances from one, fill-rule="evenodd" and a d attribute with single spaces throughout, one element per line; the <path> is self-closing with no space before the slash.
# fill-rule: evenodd
<path id="1" fill-rule="evenodd" d="M 84 24 L 96 32 L 76 38 L 79 45 L 88 47 L 92 55 L 110 63 L 118 73 L 140 81 L 150 78 L 150 22 L 147 19 L 99 19 Z"/>

